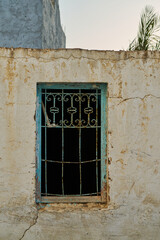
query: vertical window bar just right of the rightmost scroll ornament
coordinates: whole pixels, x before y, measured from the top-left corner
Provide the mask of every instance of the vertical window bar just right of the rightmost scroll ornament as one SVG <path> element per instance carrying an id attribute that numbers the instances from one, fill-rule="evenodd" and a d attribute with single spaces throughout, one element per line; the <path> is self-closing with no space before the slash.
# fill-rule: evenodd
<path id="1" fill-rule="evenodd" d="M 96 189 L 98 195 L 98 90 L 96 89 Z"/>

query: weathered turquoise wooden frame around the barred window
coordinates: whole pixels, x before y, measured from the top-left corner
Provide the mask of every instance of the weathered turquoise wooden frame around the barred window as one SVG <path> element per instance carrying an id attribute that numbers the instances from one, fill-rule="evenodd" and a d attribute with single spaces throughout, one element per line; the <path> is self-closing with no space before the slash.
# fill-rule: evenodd
<path id="1" fill-rule="evenodd" d="M 41 196 L 41 95 L 42 89 L 100 89 L 101 90 L 101 195 L 100 196 Z M 107 83 L 37 83 L 36 102 L 36 202 L 99 202 L 107 201 Z"/>

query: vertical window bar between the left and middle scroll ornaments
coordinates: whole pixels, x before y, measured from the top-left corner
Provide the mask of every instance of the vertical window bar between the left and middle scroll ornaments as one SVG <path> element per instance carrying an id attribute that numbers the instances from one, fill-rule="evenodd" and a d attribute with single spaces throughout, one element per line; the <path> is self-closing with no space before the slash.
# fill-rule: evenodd
<path id="1" fill-rule="evenodd" d="M 62 195 L 64 195 L 64 90 L 62 89 Z"/>

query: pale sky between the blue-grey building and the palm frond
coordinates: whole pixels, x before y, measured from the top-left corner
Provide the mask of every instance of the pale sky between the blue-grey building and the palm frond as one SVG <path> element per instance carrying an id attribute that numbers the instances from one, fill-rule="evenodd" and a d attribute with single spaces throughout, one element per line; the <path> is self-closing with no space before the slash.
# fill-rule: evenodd
<path id="1" fill-rule="evenodd" d="M 160 0 L 59 0 L 67 48 L 126 50 L 136 36 L 140 13 Z"/>

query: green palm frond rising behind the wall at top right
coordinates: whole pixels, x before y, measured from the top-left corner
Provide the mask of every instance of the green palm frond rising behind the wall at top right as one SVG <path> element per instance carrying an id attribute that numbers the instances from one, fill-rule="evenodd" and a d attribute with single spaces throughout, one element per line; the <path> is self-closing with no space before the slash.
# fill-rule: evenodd
<path id="1" fill-rule="evenodd" d="M 146 6 L 141 14 L 137 37 L 129 44 L 128 50 L 159 50 L 160 17 L 152 6 Z"/>

